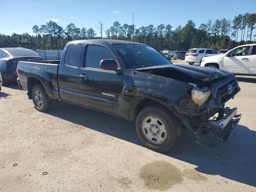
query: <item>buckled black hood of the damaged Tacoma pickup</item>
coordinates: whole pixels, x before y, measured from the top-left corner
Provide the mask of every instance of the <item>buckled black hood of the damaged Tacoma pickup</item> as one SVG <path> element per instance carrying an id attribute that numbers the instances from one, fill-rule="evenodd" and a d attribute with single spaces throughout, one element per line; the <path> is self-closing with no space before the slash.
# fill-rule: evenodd
<path id="1" fill-rule="evenodd" d="M 138 68 L 136 70 L 191 83 L 209 82 L 231 74 L 216 68 L 172 64 Z"/>

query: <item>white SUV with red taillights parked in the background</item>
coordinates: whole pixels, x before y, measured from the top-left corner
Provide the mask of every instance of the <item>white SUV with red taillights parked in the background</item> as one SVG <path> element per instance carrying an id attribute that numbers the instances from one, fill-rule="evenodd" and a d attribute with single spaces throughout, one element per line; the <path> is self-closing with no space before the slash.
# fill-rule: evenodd
<path id="1" fill-rule="evenodd" d="M 210 54 L 218 54 L 218 52 L 213 49 L 189 49 L 186 53 L 185 61 L 193 65 L 194 63 L 200 63 L 204 56 Z"/>

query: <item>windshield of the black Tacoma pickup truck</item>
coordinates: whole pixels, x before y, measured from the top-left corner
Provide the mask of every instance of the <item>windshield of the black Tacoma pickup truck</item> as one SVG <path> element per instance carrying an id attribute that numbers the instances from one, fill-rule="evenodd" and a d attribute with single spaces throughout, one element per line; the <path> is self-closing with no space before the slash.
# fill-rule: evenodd
<path id="1" fill-rule="evenodd" d="M 172 64 L 165 56 L 150 46 L 116 44 L 114 47 L 120 52 L 129 69 Z"/>

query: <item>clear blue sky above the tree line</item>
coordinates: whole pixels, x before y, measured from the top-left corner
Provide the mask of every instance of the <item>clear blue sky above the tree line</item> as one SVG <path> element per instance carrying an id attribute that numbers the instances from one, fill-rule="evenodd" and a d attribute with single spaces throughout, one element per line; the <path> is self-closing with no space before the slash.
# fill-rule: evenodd
<path id="1" fill-rule="evenodd" d="M 246 12 L 256 12 L 256 0 L 0 0 L 0 33 L 33 34 L 34 25 L 53 20 L 63 28 L 71 22 L 79 28 L 92 27 L 99 35 L 96 28 L 99 20 L 105 22 L 106 28 L 116 20 L 121 25 L 132 24 L 132 13 L 138 27 L 170 24 L 175 29 L 188 20 L 198 27 L 210 18 L 233 20 L 234 16 Z"/>

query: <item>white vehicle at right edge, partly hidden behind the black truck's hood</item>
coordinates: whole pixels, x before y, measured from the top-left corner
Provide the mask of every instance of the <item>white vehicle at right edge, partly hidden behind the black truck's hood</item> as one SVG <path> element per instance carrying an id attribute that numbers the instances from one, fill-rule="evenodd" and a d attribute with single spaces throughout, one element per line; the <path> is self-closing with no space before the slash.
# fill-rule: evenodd
<path id="1" fill-rule="evenodd" d="M 219 68 L 234 74 L 256 74 L 256 44 L 238 46 L 225 54 L 206 56 L 200 66 Z"/>

